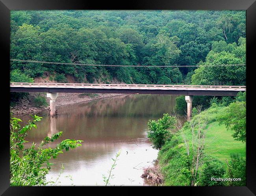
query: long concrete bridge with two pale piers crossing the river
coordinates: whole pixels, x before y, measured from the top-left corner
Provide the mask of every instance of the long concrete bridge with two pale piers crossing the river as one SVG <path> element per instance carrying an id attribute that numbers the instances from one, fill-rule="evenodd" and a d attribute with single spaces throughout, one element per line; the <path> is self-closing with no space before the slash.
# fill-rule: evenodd
<path id="1" fill-rule="evenodd" d="M 95 84 L 95 83 L 10 83 L 11 92 L 47 92 L 50 97 L 50 115 L 56 114 L 58 93 L 123 93 L 186 95 L 187 116 L 190 118 L 194 95 L 236 96 L 246 86 L 212 85 L 155 85 L 155 84 Z"/>

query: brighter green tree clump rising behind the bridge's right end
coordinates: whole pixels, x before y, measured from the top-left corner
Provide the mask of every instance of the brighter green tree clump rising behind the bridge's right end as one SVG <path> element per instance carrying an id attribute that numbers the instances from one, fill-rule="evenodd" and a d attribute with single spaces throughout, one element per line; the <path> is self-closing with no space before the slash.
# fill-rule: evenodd
<path id="1" fill-rule="evenodd" d="M 240 45 L 213 42 L 212 50 L 201 65 L 245 64 L 246 45 L 240 37 Z M 200 66 L 192 76 L 195 85 L 245 85 L 246 66 Z"/>

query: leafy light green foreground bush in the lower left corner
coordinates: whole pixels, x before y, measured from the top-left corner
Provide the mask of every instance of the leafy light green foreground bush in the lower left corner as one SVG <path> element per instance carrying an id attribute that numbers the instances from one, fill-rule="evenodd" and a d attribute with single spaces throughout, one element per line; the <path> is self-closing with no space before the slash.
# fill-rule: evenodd
<path id="1" fill-rule="evenodd" d="M 56 158 L 59 153 L 63 153 L 63 149 L 69 151 L 81 146 L 82 140 L 63 140 L 55 148 L 43 147 L 57 140 L 62 132 L 46 137 L 36 147 L 32 143 L 31 147 L 24 149 L 24 143 L 28 135 L 28 131 L 36 128 L 36 122 L 41 121 L 42 117 L 32 116 L 33 120 L 29 121 L 26 126 L 20 127 L 19 118 L 11 118 L 10 120 L 10 185 L 11 186 L 34 186 L 46 185 L 46 174 L 50 171 L 52 163 L 50 159 Z M 23 150 L 24 149 L 24 150 Z"/>

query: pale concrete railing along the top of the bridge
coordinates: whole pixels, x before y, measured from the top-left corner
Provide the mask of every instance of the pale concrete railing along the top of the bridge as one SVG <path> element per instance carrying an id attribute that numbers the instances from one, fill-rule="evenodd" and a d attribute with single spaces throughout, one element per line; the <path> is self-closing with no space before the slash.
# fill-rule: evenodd
<path id="1" fill-rule="evenodd" d="M 15 86 L 113 86 L 113 87 L 201 87 L 201 88 L 246 88 L 246 86 L 225 86 L 225 85 L 172 85 L 172 84 L 97 84 L 97 83 L 26 83 L 26 82 L 11 82 L 10 87 Z"/>

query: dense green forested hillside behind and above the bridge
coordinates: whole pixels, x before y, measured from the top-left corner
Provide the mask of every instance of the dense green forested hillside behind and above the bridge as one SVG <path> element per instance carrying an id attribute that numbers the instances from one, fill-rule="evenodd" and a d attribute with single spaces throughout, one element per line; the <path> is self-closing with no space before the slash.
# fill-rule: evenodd
<path id="1" fill-rule="evenodd" d="M 123 65 L 245 63 L 244 11 L 11 11 L 11 58 Z M 123 68 L 11 62 L 32 78 L 190 83 L 194 67 Z M 191 72 L 192 71 L 192 72 Z M 186 77 L 187 73 L 189 77 Z M 222 73 L 219 75 L 219 73 Z M 199 67 L 195 84 L 245 84 L 245 67 Z"/>

